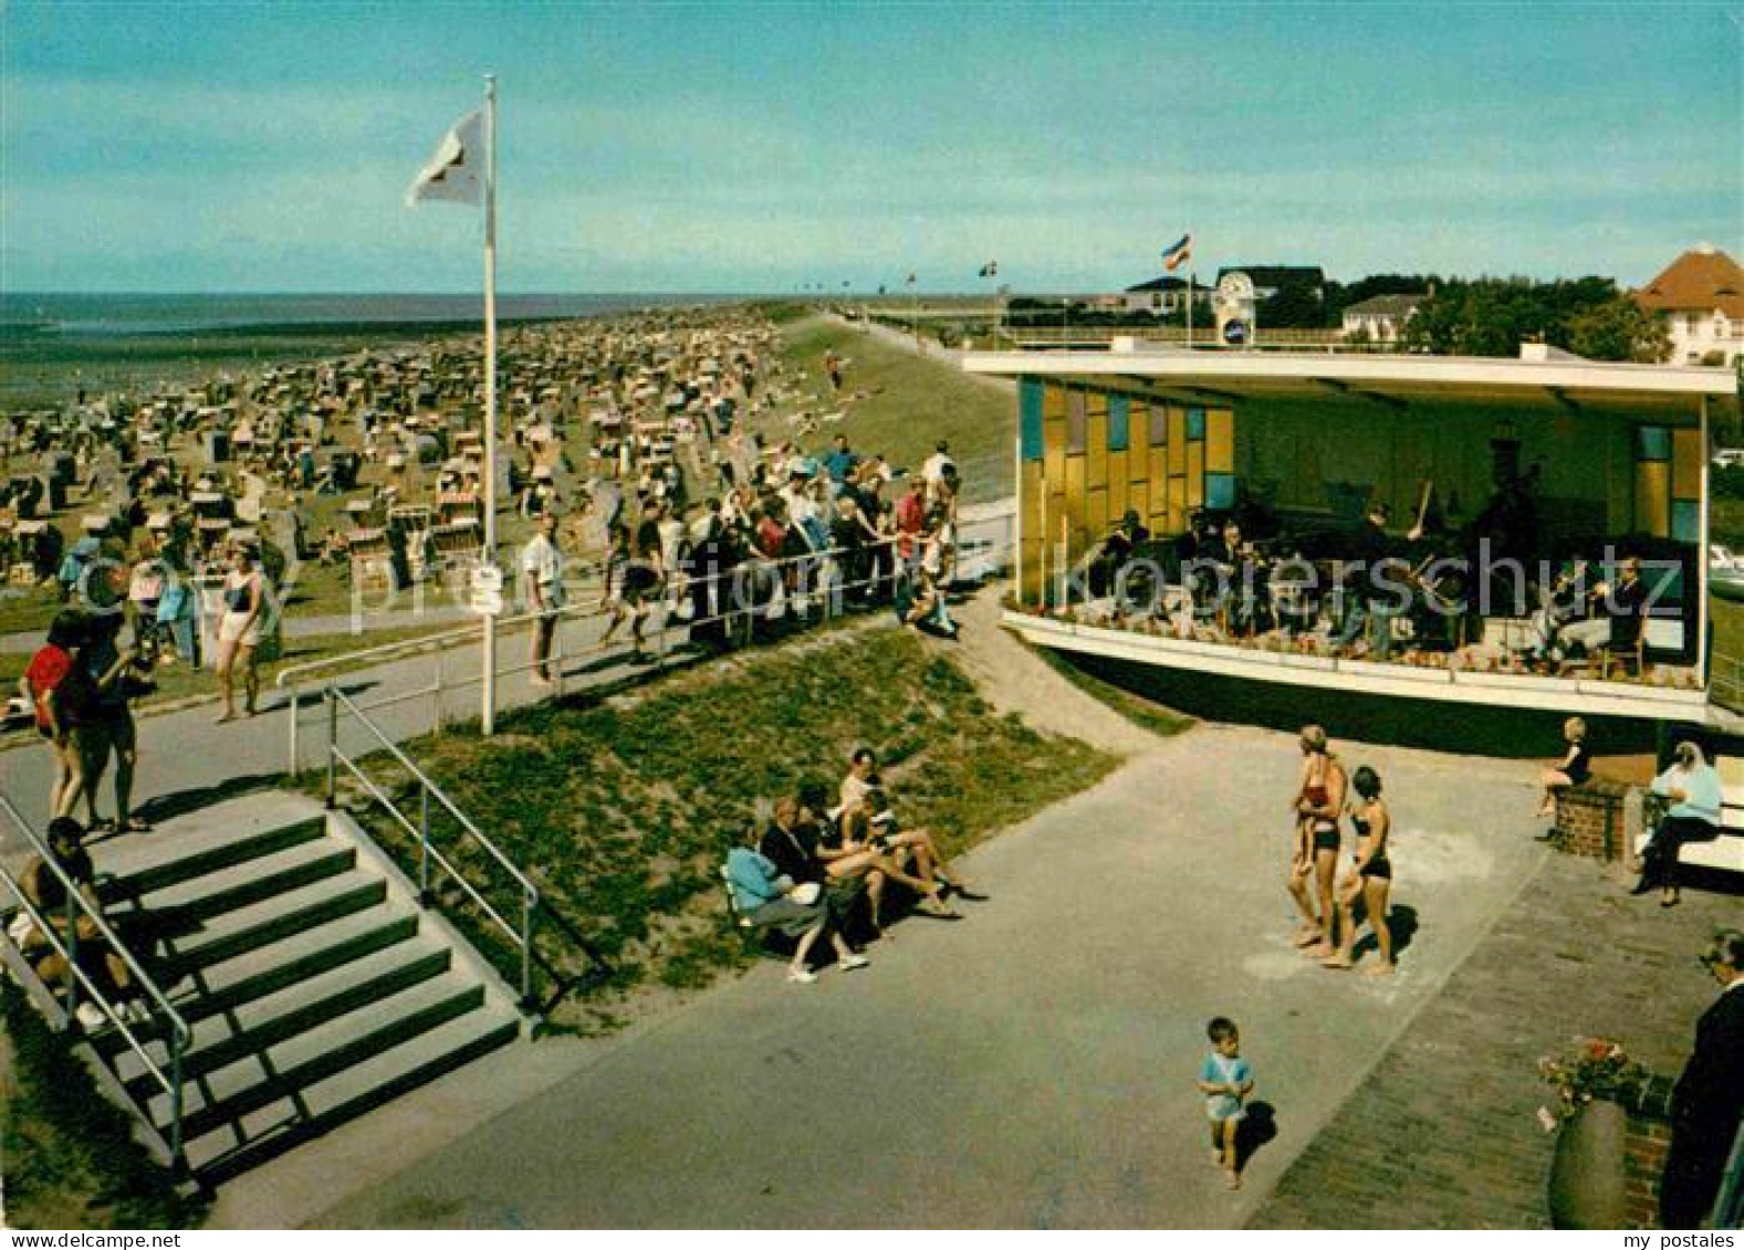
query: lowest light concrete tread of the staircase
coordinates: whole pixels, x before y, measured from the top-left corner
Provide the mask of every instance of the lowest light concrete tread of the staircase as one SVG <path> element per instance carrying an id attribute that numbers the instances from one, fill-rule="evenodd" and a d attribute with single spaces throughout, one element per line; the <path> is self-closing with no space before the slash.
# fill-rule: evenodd
<path id="1" fill-rule="evenodd" d="M 183 1137 L 192 1142 L 281 1098 L 295 1097 L 305 1086 L 474 1011 L 483 1002 L 483 985 L 459 973 L 445 973 L 208 1072 L 183 1086 Z M 169 1095 L 159 1090 L 145 1109 L 153 1123 L 167 1123 Z"/>

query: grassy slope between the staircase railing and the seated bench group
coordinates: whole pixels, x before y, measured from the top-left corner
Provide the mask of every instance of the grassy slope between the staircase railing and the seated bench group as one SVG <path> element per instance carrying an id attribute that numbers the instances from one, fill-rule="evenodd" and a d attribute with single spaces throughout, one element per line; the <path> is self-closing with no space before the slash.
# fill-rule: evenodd
<path id="1" fill-rule="evenodd" d="M 834 790 L 860 744 L 884 762 L 903 819 L 935 830 L 947 854 L 1118 762 L 996 717 L 956 662 L 895 629 L 746 652 L 603 703 L 539 704 L 504 717 L 490 743 L 445 734 L 408 753 L 612 959 L 612 988 L 628 990 L 694 988 L 743 962 L 717 875 L 727 847 L 760 802 L 802 778 Z M 373 765 L 378 785 L 417 811 L 394 765 Z M 410 837 L 370 807 L 359 818 L 412 863 Z M 452 826 L 436 821 L 436 840 L 494 886 L 494 903 L 514 898 Z M 499 966 L 516 966 L 464 908 L 462 927 Z M 553 1023 L 598 1027 L 612 1001 L 569 1001 Z"/>

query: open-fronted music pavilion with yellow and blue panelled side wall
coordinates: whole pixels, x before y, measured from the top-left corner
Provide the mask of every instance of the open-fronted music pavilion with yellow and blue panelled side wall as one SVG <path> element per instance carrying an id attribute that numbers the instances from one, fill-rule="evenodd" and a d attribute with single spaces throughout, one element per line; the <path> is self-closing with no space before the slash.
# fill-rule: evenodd
<path id="1" fill-rule="evenodd" d="M 1018 384 L 1018 554 L 1005 622 L 1174 706 L 1289 722 L 1355 701 L 1339 720 L 1381 717 L 1428 741 L 1446 717 L 1425 701 L 1521 713 L 1713 724 L 1707 701 L 1709 425 L 1737 411 L 1727 370 L 1538 359 L 1270 354 L 1135 347 L 970 354 L 970 373 Z M 1503 481 L 1526 483 L 1536 549 L 1606 546 L 1669 568 L 1645 656 L 1531 662 L 1526 610 L 1496 607 L 1444 647 L 1400 636 L 1386 662 L 1318 631 L 1067 603 L 1062 574 L 1130 511 L 1153 537 L 1195 516 L 1264 516 L 1282 533 L 1352 533 L 1386 504 L 1402 535 L 1430 495 L 1468 530 Z M 1432 486 L 1427 486 L 1432 483 Z M 1650 565 L 1650 568 L 1655 565 Z M 1606 570 L 1615 574 L 1615 570 Z M 1533 581 L 1538 581 L 1533 575 Z M 1598 581 L 1594 574 L 1589 581 Z M 1407 626 L 1397 626 L 1399 635 Z M 1578 652 L 1575 652 L 1578 654 Z M 1270 697 L 1266 697 L 1270 694 Z M 1257 708 L 1243 706 L 1254 704 Z M 1280 697 L 1284 696 L 1284 697 Z M 1282 708 L 1266 711 L 1266 706 Z M 1453 710 L 1449 710 L 1453 711 Z M 1536 717 L 1533 717 L 1536 720 Z M 1411 730 L 1416 732 L 1411 732 Z M 1536 741 L 1536 753 L 1550 746 Z"/>

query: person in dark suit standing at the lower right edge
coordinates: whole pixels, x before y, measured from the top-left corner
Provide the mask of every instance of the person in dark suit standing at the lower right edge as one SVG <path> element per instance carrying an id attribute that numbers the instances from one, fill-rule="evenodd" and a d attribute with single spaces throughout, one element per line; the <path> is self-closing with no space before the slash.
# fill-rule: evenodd
<path id="1" fill-rule="evenodd" d="M 1659 1182 L 1667 1229 L 1700 1227 L 1744 1112 L 1744 933 L 1721 929 L 1702 964 L 1723 988 L 1695 1023 L 1695 1050 L 1671 1095 L 1671 1149 Z"/>

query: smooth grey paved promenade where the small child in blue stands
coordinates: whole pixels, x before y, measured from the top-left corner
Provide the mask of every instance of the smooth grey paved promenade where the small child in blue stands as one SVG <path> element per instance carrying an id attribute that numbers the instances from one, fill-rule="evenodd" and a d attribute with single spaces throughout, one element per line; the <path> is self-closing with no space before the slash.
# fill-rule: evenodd
<path id="1" fill-rule="evenodd" d="M 623 1037 L 541 1043 L 579 1070 L 426 1158 L 408 1124 L 523 1077 L 476 1065 L 337 1131 L 319 1175 L 354 1192 L 310 1222 L 1240 1226 L 1547 854 L 1529 769 L 1346 748 L 1397 797 L 1409 941 L 1392 982 L 1327 973 L 1287 943 L 1298 758 L 1250 729 L 1160 741 L 978 849 L 991 901 L 903 922 L 865 971 L 794 987 L 764 962 Z M 1277 1109 L 1238 1194 L 1191 1086 L 1216 1013 Z M 312 1175 L 265 1170 L 218 1217 L 270 1224 Z"/>

